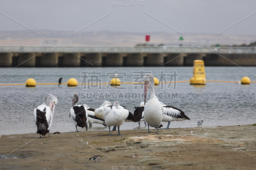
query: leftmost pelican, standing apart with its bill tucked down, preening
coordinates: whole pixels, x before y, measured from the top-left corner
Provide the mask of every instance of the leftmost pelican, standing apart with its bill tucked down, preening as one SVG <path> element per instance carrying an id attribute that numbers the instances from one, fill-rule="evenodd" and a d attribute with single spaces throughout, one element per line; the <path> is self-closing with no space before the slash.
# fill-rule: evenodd
<path id="1" fill-rule="evenodd" d="M 49 106 L 46 106 L 49 102 Z M 58 99 L 52 94 L 47 94 L 44 97 L 44 103 L 34 109 L 34 118 L 37 126 L 36 133 L 44 136 L 49 133 L 50 137 L 50 127 L 52 125 L 52 118 L 54 114 L 55 105 L 57 105 Z M 52 110 L 52 111 L 51 111 Z"/>

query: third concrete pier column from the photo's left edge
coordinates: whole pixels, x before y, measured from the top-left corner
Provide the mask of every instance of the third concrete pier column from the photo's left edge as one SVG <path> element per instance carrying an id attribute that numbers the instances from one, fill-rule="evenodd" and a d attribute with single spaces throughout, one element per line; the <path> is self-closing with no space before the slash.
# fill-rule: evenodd
<path id="1" fill-rule="evenodd" d="M 57 53 L 44 53 L 40 59 L 40 67 L 57 67 L 58 54 Z"/>

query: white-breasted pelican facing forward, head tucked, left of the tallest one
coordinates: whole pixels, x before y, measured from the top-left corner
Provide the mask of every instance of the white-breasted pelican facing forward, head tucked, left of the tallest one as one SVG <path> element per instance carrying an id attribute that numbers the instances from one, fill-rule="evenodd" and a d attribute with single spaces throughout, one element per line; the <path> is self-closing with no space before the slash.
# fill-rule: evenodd
<path id="1" fill-rule="evenodd" d="M 109 106 L 104 112 L 105 124 L 109 129 L 109 136 L 112 136 L 110 133 L 110 126 L 117 126 L 118 135 L 120 135 L 120 126 L 124 123 L 124 120 L 128 117 L 129 111 L 124 107 L 120 106 L 118 101 L 115 101 L 113 106 Z"/>

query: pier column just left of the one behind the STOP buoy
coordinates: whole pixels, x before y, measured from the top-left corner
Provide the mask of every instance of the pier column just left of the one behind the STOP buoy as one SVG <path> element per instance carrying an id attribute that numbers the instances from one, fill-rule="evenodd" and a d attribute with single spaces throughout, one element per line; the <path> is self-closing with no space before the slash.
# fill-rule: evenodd
<path id="1" fill-rule="evenodd" d="M 164 66 L 183 66 L 184 65 L 184 57 L 186 57 L 187 54 L 168 54 L 166 57 L 164 57 Z"/>

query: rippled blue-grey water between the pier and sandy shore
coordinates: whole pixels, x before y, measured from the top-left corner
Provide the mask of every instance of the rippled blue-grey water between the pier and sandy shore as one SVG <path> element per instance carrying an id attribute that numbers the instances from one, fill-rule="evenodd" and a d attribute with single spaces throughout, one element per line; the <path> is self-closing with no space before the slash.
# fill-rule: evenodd
<path id="1" fill-rule="evenodd" d="M 246 70 L 256 74 L 256 67 L 244 67 Z M 0 75 L 11 68 L 0 68 Z M 115 68 L 16 68 L 0 77 L 1 84 L 25 83 L 28 78 L 34 78 L 37 83 L 57 83 L 62 77 L 65 83 L 69 78 L 76 78 L 82 83 L 81 72 L 92 71 L 96 73 L 84 80 L 92 80 L 102 83 L 109 82 L 106 72 L 110 75 L 116 70 L 121 76 L 121 81 L 133 82 L 133 79 L 140 74 L 133 74 L 133 71 L 152 71 L 155 77 L 160 78 L 161 70 L 164 74 L 173 74 L 177 71 L 177 81 L 189 80 L 192 77 L 193 67 L 115 67 Z M 101 74 L 101 75 L 100 75 Z M 125 77 L 122 78 L 122 76 Z M 83 75 L 82 75 L 83 76 Z M 94 76 L 94 77 L 93 77 Z M 206 67 L 207 80 L 228 80 L 239 81 L 242 77 L 248 76 L 256 80 L 250 73 L 239 67 Z M 170 81 L 170 76 L 164 76 Z M 213 83 L 207 85 L 189 85 L 186 83 L 162 84 L 155 86 L 155 92 L 159 100 L 164 104 L 178 107 L 191 119 L 181 122 L 171 122 L 170 128 L 197 127 L 196 121 L 203 118 L 203 126 L 242 125 L 256 123 L 255 114 L 255 83 L 251 85 L 239 85 L 236 83 Z M 120 89 L 124 87 L 125 89 Z M 136 89 L 137 88 L 137 89 Z M 55 107 L 51 132 L 75 131 L 76 127 L 69 118 L 71 106 L 71 95 L 79 94 L 79 103 L 86 103 L 89 107 L 98 108 L 103 100 L 111 103 L 118 100 L 133 113 L 134 106 L 139 106 L 143 101 L 144 90 L 140 85 L 121 85 L 119 88 L 112 88 L 108 85 L 96 87 L 67 87 L 67 85 L 36 85 L 35 88 L 26 88 L 24 85 L 0 86 L 0 134 L 22 134 L 35 133 L 36 125 L 33 110 L 43 103 L 46 94 L 54 94 L 58 97 L 58 105 Z M 94 94 L 94 96 L 92 95 Z M 3 97 L 4 96 L 4 97 Z M 85 97 L 86 96 L 86 97 Z M 167 122 L 162 123 L 164 128 Z M 144 123 L 141 127 L 138 123 L 124 122 L 120 127 L 125 129 L 146 129 Z M 78 128 L 78 131 L 85 129 Z M 108 128 L 100 124 L 93 124 L 90 131 L 103 130 Z M 146 130 L 145 130 L 146 131 Z"/>

